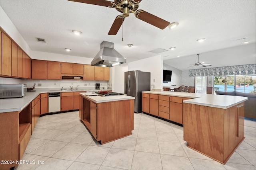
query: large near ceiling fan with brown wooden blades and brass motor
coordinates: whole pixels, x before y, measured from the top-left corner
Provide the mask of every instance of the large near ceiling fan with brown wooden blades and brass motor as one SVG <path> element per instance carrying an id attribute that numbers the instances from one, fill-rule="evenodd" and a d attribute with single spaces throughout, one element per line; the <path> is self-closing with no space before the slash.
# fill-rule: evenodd
<path id="1" fill-rule="evenodd" d="M 157 16 L 154 16 L 144 10 L 138 10 L 139 3 L 142 0 L 137 0 L 136 2 L 134 0 L 114 0 L 114 2 L 111 2 L 108 0 L 69 0 L 69 1 L 106 6 L 109 8 L 116 8 L 116 10 L 121 12 L 122 15 L 119 15 L 116 17 L 116 19 L 114 20 L 114 23 L 112 24 L 108 32 L 108 35 L 116 35 L 124 19 L 128 17 L 130 13 L 134 13 L 136 18 L 142 21 L 145 21 L 151 25 L 154 25 L 160 29 L 164 29 L 170 24 L 168 21 L 158 18 Z"/>

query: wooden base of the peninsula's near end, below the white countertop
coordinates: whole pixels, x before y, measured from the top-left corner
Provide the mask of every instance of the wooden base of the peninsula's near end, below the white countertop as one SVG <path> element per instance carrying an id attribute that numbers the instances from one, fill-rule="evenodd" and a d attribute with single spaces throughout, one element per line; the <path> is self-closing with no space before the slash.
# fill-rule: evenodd
<path id="1" fill-rule="evenodd" d="M 228 109 L 183 104 L 184 141 L 222 164 L 244 139 L 244 102 Z"/>

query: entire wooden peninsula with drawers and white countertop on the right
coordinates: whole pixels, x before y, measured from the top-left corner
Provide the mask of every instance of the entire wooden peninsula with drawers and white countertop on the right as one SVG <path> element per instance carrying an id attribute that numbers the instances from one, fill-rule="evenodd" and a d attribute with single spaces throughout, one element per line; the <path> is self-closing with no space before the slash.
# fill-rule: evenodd
<path id="1" fill-rule="evenodd" d="M 157 100 L 158 105 L 154 104 Z M 142 111 L 156 115 L 148 105 L 158 107 L 156 116 L 183 124 L 189 148 L 225 164 L 244 140 L 246 100 L 240 96 L 148 91 L 142 92 Z M 177 113 L 174 118 L 181 118 L 173 119 L 172 114 Z"/>

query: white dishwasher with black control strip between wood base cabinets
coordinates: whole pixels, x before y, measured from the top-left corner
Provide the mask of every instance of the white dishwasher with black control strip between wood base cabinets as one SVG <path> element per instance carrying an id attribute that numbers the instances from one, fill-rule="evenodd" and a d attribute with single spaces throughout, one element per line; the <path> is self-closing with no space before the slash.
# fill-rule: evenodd
<path id="1" fill-rule="evenodd" d="M 49 93 L 49 113 L 60 111 L 60 92 Z"/>

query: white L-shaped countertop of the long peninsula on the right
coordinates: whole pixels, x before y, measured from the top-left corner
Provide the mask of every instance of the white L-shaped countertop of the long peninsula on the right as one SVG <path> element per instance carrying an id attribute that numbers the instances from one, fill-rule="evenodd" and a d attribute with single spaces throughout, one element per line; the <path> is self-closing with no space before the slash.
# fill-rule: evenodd
<path id="1" fill-rule="evenodd" d="M 169 91 L 163 91 L 163 92 L 146 91 L 142 93 L 192 98 L 189 100 L 183 100 L 183 103 L 217 107 L 222 109 L 228 109 L 229 107 L 235 106 L 241 102 L 248 100 L 248 98 L 242 97 L 242 96 L 228 96 L 228 95 L 215 95 L 215 94 L 195 94 L 195 93 L 169 92 Z"/>

